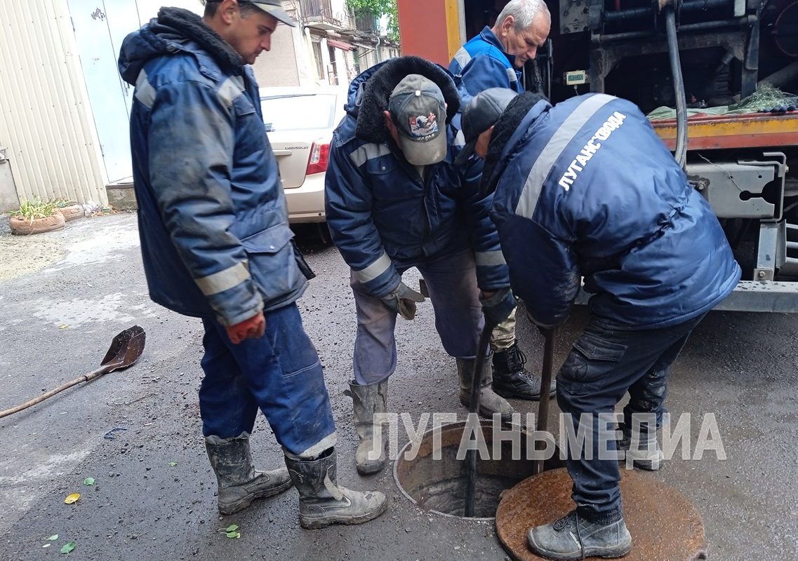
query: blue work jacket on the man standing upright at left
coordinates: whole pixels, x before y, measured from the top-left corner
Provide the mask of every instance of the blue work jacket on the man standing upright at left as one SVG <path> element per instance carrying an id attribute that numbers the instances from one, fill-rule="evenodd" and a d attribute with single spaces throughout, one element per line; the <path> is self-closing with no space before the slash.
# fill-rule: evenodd
<path id="1" fill-rule="evenodd" d="M 227 325 L 297 300 L 307 281 L 250 67 L 152 20 L 124 39 L 119 69 L 136 85 L 130 142 L 152 300 Z"/>

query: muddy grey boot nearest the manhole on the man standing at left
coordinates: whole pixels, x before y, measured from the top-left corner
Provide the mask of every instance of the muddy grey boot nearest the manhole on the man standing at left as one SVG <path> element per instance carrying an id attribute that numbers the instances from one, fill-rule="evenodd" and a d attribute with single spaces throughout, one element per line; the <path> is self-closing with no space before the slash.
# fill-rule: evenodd
<path id="1" fill-rule="evenodd" d="M 362 524 L 385 512 L 385 495 L 359 492 L 338 486 L 335 449 L 327 449 L 315 460 L 286 455 L 291 480 L 299 492 L 299 525 L 325 528 L 330 524 Z"/>

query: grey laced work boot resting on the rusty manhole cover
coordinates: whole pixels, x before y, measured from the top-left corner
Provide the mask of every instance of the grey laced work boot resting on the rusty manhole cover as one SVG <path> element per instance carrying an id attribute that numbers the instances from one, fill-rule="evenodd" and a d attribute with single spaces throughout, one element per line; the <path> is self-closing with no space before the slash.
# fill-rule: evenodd
<path id="1" fill-rule="evenodd" d="M 614 559 L 632 549 L 632 536 L 623 519 L 610 524 L 593 524 L 575 510 L 551 524 L 530 528 L 527 541 L 535 555 L 556 561 L 586 557 Z"/>

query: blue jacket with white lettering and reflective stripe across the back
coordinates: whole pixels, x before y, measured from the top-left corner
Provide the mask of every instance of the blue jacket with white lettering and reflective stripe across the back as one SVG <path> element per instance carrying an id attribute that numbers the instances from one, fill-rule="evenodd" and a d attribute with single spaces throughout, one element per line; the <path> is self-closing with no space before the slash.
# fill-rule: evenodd
<path id="1" fill-rule="evenodd" d="M 740 280 L 709 204 L 629 101 L 539 101 L 492 179 L 512 288 L 540 325 L 567 317 L 582 277 L 591 313 L 626 328 L 690 320 Z"/>

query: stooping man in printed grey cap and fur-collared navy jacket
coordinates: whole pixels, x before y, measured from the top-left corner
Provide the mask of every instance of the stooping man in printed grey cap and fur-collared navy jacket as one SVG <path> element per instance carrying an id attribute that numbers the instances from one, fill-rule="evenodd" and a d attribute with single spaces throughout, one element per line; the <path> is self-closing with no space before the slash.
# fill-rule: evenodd
<path id="1" fill-rule="evenodd" d="M 466 406 L 483 308 L 496 324 L 494 311 L 515 302 L 488 217 L 490 198 L 478 193 L 481 162 L 453 163 L 462 142 L 448 121 L 459 103 L 444 69 L 417 57 L 395 58 L 355 78 L 330 144 L 327 225 L 350 266 L 358 313 L 350 392 L 360 473 L 385 465 L 385 434 L 375 435 L 373 418 L 386 412 L 388 378 L 397 366 L 397 314 L 412 320 L 424 300 L 402 282 L 402 273 L 416 267 L 426 281 Z M 480 414 L 512 418 L 512 406 L 491 390 L 485 363 L 487 371 L 476 374 L 483 384 Z"/>

